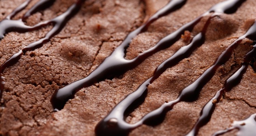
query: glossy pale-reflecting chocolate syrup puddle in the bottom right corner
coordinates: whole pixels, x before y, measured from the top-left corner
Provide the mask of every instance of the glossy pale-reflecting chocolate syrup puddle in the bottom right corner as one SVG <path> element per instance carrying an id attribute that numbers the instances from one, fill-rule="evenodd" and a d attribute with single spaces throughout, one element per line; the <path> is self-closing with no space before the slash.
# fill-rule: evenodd
<path id="1" fill-rule="evenodd" d="M 234 121 L 230 128 L 215 132 L 213 136 L 223 135 L 232 130 L 238 129 L 237 136 L 255 136 L 256 134 L 256 114 L 251 115 L 249 118 L 241 121 Z"/>

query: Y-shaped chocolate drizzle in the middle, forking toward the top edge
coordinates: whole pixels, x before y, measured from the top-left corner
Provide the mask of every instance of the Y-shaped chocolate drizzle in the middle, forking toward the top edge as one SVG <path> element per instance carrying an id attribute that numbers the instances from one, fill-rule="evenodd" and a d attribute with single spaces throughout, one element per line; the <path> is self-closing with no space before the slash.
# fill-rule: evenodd
<path id="1" fill-rule="evenodd" d="M 139 54 L 137 57 L 135 57 L 132 60 L 126 60 L 125 51 L 128 48 L 129 43 L 131 42 L 133 37 L 135 37 L 137 34 L 141 32 L 144 32 L 148 28 L 148 26 L 159 17 L 167 15 L 172 11 L 175 11 L 177 7 L 181 7 L 186 2 L 184 0 L 170 1 L 165 7 L 160 9 L 141 27 L 139 27 L 138 29 L 128 34 L 127 37 L 124 39 L 124 41 L 112 52 L 112 54 L 106 57 L 105 60 L 87 77 L 80 79 L 78 81 L 75 81 L 57 90 L 51 99 L 53 107 L 56 109 L 62 109 L 66 104 L 66 102 L 69 99 L 74 98 L 75 93 L 80 89 L 84 87 L 89 87 L 94 83 L 98 83 L 109 77 L 123 74 L 126 71 L 137 67 L 147 57 L 173 45 L 177 40 L 180 39 L 181 35 L 184 33 L 185 30 L 192 31 L 194 26 L 201 20 L 201 18 L 206 15 L 209 15 L 211 12 L 233 13 L 244 1 L 245 0 L 226 0 L 224 2 L 218 3 L 215 6 L 211 7 L 210 10 L 208 10 L 204 14 L 194 19 L 193 21 L 184 24 L 181 28 L 179 28 L 175 32 L 162 38 L 160 41 L 158 41 L 158 43 L 154 47 L 144 51 L 143 53 Z"/>

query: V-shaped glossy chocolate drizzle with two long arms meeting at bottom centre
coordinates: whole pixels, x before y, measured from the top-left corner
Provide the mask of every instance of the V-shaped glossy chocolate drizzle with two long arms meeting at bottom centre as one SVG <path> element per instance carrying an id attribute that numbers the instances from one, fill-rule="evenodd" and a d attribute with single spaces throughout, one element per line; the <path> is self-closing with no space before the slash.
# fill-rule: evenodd
<path id="1" fill-rule="evenodd" d="M 235 2 L 239 2 L 240 4 L 242 3 L 241 1 L 233 0 L 224 1 L 213 6 L 208 12 L 206 12 L 202 16 L 208 15 L 210 12 L 215 11 L 218 11 L 218 14 L 226 13 L 226 11 L 235 12 L 236 10 L 230 10 L 237 9 L 239 7 L 240 4 L 237 4 Z M 193 50 L 195 50 L 198 46 L 201 46 L 204 43 L 204 34 L 207 30 L 211 18 L 216 15 L 217 13 L 213 14 L 208 19 L 208 21 L 205 23 L 202 32 L 197 34 L 189 45 L 182 47 L 170 58 L 168 58 L 166 61 L 160 64 L 156 68 L 153 77 L 145 81 L 143 84 L 139 86 L 139 88 L 136 91 L 134 91 L 133 93 L 128 95 L 124 100 L 118 103 L 112 109 L 112 111 L 97 124 L 95 129 L 96 135 L 128 135 L 128 133 L 131 130 L 137 128 L 142 124 L 157 125 L 163 121 L 166 113 L 170 111 L 176 103 L 179 103 L 181 101 L 196 100 L 202 87 L 212 78 L 216 69 L 229 59 L 232 49 L 234 49 L 245 37 L 241 37 L 241 39 L 236 40 L 227 50 L 225 50 L 222 53 L 222 55 L 216 60 L 213 67 L 205 71 L 204 74 L 201 75 L 201 77 L 199 77 L 198 80 L 195 81 L 193 84 L 189 85 L 184 90 L 182 90 L 179 97 L 176 100 L 163 104 L 155 111 L 145 115 L 140 121 L 138 121 L 135 124 L 129 124 L 125 121 L 125 117 L 144 101 L 147 95 L 147 86 L 149 84 L 151 84 L 155 79 L 157 79 L 160 76 L 160 74 L 162 74 L 167 68 L 176 65 L 178 62 L 188 57 Z"/>

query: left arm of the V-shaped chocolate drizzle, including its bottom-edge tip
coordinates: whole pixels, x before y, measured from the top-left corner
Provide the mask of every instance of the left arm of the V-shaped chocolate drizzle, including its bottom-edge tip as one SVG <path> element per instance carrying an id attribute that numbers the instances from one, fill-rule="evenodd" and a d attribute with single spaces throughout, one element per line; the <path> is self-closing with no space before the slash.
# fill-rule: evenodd
<path id="1" fill-rule="evenodd" d="M 208 19 L 207 23 L 204 26 L 202 32 L 197 34 L 191 41 L 190 44 L 183 46 L 177 52 L 175 52 L 170 58 L 162 62 L 155 70 L 153 77 L 146 80 L 143 84 L 141 84 L 136 91 L 128 95 L 124 100 L 118 103 L 112 111 L 101 120 L 95 129 L 96 135 L 128 135 L 129 132 L 143 123 L 148 125 L 154 125 L 155 123 L 160 123 L 163 118 L 158 119 L 159 122 L 148 121 L 144 122 L 144 120 L 139 121 L 135 124 L 129 124 L 125 121 L 125 118 L 129 113 L 131 113 L 138 105 L 140 105 L 147 95 L 147 86 L 154 82 L 167 68 L 172 67 L 179 63 L 184 58 L 188 57 L 193 50 L 197 47 L 201 46 L 205 40 L 205 31 L 207 26 L 209 25 L 210 19 Z M 178 102 L 178 101 L 175 101 Z"/>

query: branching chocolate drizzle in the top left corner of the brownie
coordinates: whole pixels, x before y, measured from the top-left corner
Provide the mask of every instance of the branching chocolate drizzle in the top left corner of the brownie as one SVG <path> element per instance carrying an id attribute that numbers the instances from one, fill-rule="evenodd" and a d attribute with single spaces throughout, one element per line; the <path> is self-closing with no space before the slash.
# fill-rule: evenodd
<path id="1" fill-rule="evenodd" d="M 61 14 L 51 20 L 40 22 L 32 27 L 24 24 L 24 22 L 22 20 L 26 20 L 26 18 L 28 16 L 30 16 L 31 14 L 33 14 L 41 9 L 47 8 L 48 6 L 50 6 L 52 4 L 53 1 L 54 0 L 52 0 L 51 2 L 49 0 L 41 0 L 38 3 L 36 3 L 35 5 L 33 5 L 31 7 L 31 9 L 25 13 L 25 15 L 23 16 L 22 19 L 11 20 L 12 17 L 14 17 L 17 13 L 22 11 L 28 5 L 30 0 L 27 0 L 23 4 L 21 4 L 19 7 L 17 7 L 4 20 L 2 20 L 0 22 L 0 28 L 1 28 L 0 38 L 3 38 L 4 35 L 9 32 L 28 32 L 28 31 L 38 30 L 47 25 L 51 25 L 51 24 L 53 25 L 53 28 L 45 35 L 44 38 L 41 38 L 38 41 L 35 41 L 35 42 L 29 44 L 28 46 L 24 47 L 22 50 L 20 50 L 18 53 L 15 53 L 14 55 L 12 55 L 7 61 L 5 61 L 1 65 L 1 67 L 0 67 L 0 76 L 1 76 L 1 78 L 0 78 L 0 98 L 2 97 L 2 93 L 4 90 L 4 82 L 3 82 L 4 77 L 2 77 L 2 73 L 3 73 L 4 69 L 17 63 L 18 60 L 20 59 L 20 57 L 22 55 L 24 55 L 27 51 L 32 51 L 34 49 L 42 47 L 43 44 L 47 43 L 53 36 L 58 34 L 63 29 L 63 27 L 65 26 L 67 21 L 70 20 L 70 18 L 72 16 L 74 16 L 79 11 L 79 9 L 82 5 L 82 2 L 84 2 L 84 0 L 78 0 L 75 4 L 71 5 L 68 8 L 68 10 L 66 12 L 64 12 L 63 14 Z"/>

